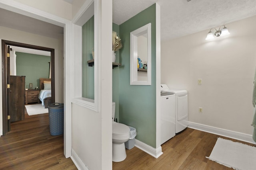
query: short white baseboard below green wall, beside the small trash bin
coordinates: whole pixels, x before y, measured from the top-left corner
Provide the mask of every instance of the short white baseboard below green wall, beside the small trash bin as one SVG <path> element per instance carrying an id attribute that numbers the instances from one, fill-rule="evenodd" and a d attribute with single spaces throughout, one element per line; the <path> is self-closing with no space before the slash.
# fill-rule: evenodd
<path id="1" fill-rule="evenodd" d="M 137 139 L 135 139 L 135 147 L 137 147 L 140 150 L 143 150 L 144 152 L 150 154 L 155 158 L 158 158 L 161 154 L 163 154 L 161 146 L 158 148 L 153 148 Z"/>

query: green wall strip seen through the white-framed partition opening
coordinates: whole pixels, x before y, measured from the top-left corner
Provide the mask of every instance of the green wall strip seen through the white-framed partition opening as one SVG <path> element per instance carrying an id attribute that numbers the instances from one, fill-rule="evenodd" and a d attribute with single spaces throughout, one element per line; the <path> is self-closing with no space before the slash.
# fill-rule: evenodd
<path id="1" fill-rule="evenodd" d="M 94 99 L 94 66 L 88 66 L 92 60 L 94 48 L 94 16 L 82 26 L 82 97 Z"/>

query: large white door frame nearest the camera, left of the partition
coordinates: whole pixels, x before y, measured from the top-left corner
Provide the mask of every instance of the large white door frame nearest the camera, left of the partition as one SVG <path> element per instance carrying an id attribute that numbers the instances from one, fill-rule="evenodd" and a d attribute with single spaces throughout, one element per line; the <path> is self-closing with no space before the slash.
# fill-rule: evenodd
<path id="1" fill-rule="evenodd" d="M 72 81 L 70 81 L 70 72 L 72 67 L 70 57 L 74 52 L 74 43 L 72 42 L 74 41 L 74 24 L 69 20 L 54 16 L 30 6 L 26 6 L 14 0 L 0 0 L 0 8 L 64 27 L 64 155 L 66 158 L 68 158 L 71 156 L 70 84 Z"/>

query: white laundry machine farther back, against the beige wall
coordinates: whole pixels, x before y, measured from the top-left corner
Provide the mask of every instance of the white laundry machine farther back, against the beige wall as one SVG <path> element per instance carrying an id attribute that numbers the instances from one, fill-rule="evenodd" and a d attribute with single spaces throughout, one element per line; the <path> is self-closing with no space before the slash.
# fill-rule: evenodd
<path id="1" fill-rule="evenodd" d="M 172 90 L 166 84 L 161 84 L 162 92 L 172 92 L 175 94 L 175 127 L 176 133 L 188 127 L 188 91 Z"/>

